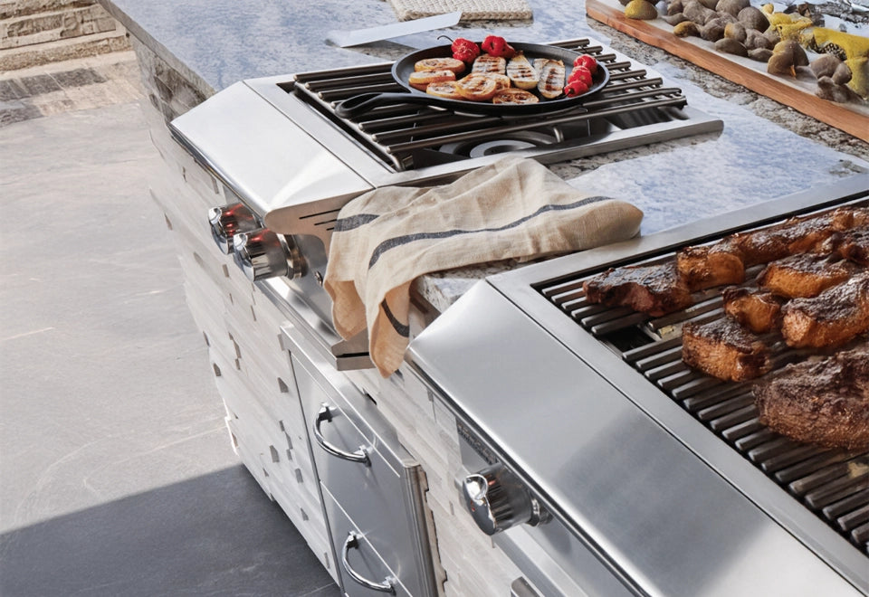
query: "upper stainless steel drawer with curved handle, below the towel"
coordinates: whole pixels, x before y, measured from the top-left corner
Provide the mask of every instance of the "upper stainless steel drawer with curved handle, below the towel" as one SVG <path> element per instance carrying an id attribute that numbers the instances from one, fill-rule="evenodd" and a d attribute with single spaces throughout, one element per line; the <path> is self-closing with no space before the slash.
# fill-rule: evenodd
<path id="1" fill-rule="evenodd" d="M 303 337 L 290 336 L 293 374 L 320 484 L 410 594 L 436 594 L 425 524 L 423 472 L 399 444 L 377 405 L 329 365 Z M 332 535 L 336 554 L 344 535 Z"/>

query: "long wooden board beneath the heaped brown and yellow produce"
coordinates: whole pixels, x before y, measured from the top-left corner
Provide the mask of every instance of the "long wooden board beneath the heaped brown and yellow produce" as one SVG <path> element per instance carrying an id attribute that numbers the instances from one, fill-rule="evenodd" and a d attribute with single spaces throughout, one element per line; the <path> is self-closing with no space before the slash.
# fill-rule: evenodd
<path id="1" fill-rule="evenodd" d="M 869 106 L 865 103 L 839 104 L 821 100 L 815 95 L 816 85 L 813 81 L 770 75 L 765 62 L 716 52 L 711 43 L 698 37 L 676 37 L 673 35 L 673 27 L 663 19 L 629 19 L 625 17 L 625 7 L 616 0 L 586 0 L 586 12 L 596 21 L 627 33 L 641 42 L 666 50 L 707 71 L 869 142 Z"/>

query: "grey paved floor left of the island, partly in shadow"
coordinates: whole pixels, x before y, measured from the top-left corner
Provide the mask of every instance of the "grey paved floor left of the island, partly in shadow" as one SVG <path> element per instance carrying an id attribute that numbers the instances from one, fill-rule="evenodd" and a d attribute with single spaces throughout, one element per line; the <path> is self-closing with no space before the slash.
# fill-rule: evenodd
<path id="1" fill-rule="evenodd" d="M 230 448 L 110 56 L 0 73 L 0 595 L 337 595 Z"/>

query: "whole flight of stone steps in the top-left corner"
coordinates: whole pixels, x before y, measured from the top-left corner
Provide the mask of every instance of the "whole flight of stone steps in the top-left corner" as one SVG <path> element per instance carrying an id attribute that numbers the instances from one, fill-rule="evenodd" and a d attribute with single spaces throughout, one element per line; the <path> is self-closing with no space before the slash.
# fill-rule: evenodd
<path id="1" fill-rule="evenodd" d="M 129 50 L 96 0 L 0 0 L 0 71 Z"/>

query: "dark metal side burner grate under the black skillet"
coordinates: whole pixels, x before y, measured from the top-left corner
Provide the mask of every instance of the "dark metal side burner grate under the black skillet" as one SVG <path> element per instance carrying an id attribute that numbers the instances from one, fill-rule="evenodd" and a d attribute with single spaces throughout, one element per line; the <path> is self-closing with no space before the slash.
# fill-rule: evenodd
<path id="1" fill-rule="evenodd" d="M 610 71 L 606 87 L 583 102 L 587 111 L 569 109 L 530 118 L 501 118 L 396 104 L 374 108 L 354 118 L 335 115 L 339 101 L 358 94 L 404 91 L 393 81 L 391 63 L 299 73 L 292 91 L 397 170 L 468 159 L 473 157 L 463 153 L 470 151 L 468 147 L 478 147 L 485 141 L 501 143 L 511 137 L 520 143 L 531 139 L 531 145 L 535 146 L 577 147 L 625 129 L 636 131 L 637 138 L 643 137 L 644 128 L 656 128 L 655 135 L 659 136 L 663 135 L 662 128 L 684 130 L 681 134 L 667 133 L 660 137 L 663 140 L 717 128 L 716 124 L 694 128 L 699 125 L 692 125 L 692 118 L 683 111 L 687 101 L 682 90 L 664 87 L 660 78 L 648 76 L 635 62 L 621 60 L 588 39 L 553 45 L 592 54 Z M 667 124 L 662 127 L 662 123 Z M 659 139 L 641 142 L 654 140 Z M 503 150 L 499 146 L 494 151 Z"/>

